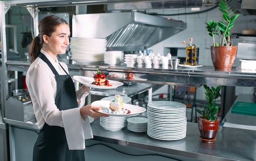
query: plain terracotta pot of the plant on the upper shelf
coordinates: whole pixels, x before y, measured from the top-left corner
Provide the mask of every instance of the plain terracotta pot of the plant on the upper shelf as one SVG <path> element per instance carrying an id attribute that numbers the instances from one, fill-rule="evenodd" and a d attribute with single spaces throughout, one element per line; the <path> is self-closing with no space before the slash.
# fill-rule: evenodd
<path id="1" fill-rule="evenodd" d="M 236 59 L 237 46 L 211 46 L 211 60 L 217 70 L 230 71 Z"/>

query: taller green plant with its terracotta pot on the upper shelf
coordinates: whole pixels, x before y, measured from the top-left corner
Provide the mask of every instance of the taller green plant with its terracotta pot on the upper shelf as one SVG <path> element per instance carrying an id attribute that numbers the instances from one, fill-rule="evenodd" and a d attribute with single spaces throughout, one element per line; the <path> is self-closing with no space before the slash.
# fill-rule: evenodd
<path id="1" fill-rule="evenodd" d="M 215 69 L 229 71 L 236 59 L 237 46 L 232 46 L 230 29 L 234 26 L 239 14 L 231 16 L 237 9 L 231 12 L 232 0 L 220 0 L 218 9 L 222 12 L 222 21 L 210 20 L 206 23 L 206 29 L 213 38 L 211 46 L 211 59 Z M 218 41 L 216 40 L 218 37 Z M 219 42 L 219 43 L 218 43 Z"/>

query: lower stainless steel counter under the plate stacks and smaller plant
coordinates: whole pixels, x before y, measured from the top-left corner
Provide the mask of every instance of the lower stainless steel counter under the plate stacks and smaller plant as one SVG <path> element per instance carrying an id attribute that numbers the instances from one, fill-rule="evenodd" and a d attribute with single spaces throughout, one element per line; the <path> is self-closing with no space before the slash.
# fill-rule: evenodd
<path id="1" fill-rule="evenodd" d="M 20 122 L 4 119 L 12 126 L 37 129 L 33 121 Z M 34 120 L 35 121 L 35 120 Z M 139 148 L 156 153 L 188 157 L 204 161 L 255 161 L 256 131 L 219 127 L 216 141 L 203 143 L 199 136 L 198 124 L 187 122 L 186 137 L 177 141 L 162 141 L 147 136 L 146 132 L 131 132 L 127 128 L 112 132 L 103 129 L 99 119 L 91 123 L 95 141 L 112 143 L 128 148 Z M 186 159 L 184 159 L 186 160 Z"/>

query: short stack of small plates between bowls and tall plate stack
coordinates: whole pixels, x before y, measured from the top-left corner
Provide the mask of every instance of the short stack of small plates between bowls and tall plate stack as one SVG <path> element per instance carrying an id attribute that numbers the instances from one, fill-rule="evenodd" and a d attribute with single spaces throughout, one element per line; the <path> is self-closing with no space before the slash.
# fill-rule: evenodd
<path id="1" fill-rule="evenodd" d="M 146 117 L 130 117 L 127 119 L 127 128 L 133 132 L 146 132 L 148 119 Z"/>

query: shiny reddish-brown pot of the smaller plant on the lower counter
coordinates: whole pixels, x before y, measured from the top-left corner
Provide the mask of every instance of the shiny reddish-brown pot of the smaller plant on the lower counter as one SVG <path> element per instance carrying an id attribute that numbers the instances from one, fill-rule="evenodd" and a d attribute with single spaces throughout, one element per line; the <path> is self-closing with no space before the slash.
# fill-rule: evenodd
<path id="1" fill-rule="evenodd" d="M 213 141 L 216 140 L 215 136 L 218 132 L 220 120 L 216 119 L 215 121 L 209 121 L 202 117 L 198 117 L 197 121 L 201 134 L 200 139 L 206 143 L 213 143 Z"/>

